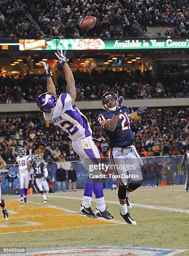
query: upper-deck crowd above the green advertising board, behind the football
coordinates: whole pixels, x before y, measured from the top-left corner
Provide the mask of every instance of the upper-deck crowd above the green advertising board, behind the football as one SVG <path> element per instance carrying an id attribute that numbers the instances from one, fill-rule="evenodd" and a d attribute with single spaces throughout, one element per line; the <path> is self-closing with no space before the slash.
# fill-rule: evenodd
<path id="1" fill-rule="evenodd" d="M 174 26 L 182 37 L 189 34 L 187 0 L 2 0 L 0 7 L 0 37 L 39 38 L 40 31 L 28 15 L 50 38 L 134 37 L 138 36 L 135 20 L 145 31 L 152 25 Z M 80 21 L 89 15 L 97 18 L 95 28 L 80 30 Z"/>

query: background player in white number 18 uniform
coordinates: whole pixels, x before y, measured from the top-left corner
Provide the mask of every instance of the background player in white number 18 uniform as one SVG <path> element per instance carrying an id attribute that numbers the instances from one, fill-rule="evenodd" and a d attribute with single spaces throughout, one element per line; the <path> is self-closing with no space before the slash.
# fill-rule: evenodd
<path id="1" fill-rule="evenodd" d="M 27 155 L 25 148 L 20 148 L 20 156 L 16 157 L 18 162 L 18 177 L 20 181 L 20 202 L 27 202 L 28 184 L 30 180 L 29 169 L 31 166 L 31 157 Z"/>

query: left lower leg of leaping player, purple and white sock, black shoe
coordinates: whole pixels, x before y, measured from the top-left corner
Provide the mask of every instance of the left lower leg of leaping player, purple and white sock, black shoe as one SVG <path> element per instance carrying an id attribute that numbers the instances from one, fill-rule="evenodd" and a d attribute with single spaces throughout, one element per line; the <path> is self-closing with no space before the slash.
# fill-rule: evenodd
<path id="1" fill-rule="evenodd" d="M 79 214 L 86 215 L 89 218 L 97 218 L 95 213 L 91 209 L 91 199 L 92 199 L 92 179 L 87 178 L 84 184 L 84 195 Z"/>

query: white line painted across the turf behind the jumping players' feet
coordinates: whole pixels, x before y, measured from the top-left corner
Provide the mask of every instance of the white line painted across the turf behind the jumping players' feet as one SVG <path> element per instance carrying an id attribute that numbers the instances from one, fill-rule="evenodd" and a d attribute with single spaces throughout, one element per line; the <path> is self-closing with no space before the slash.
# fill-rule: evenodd
<path id="1" fill-rule="evenodd" d="M 31 196 L 39 196 L 39 195 L 31 195 Z M 71 199 L 71 200 L 83 200 L 83 198 L 79 198 L 79 197 L 66 197 L 66 196 L 55 196 L 55 195 L 48 195 L 48 197 L 57 197 L 57 198 L 65 198 L 65 199 Z M 95 202 L 95 199 L 92 199 L 92 201 Z M 115 204 L 115 205 L 119 205 L 119 202 L 116 201 L 109 201 L 106 200 L 106 203 L 109 204 Z M 171 207 L 164 207 L 164 206 L 155 206 L 155 205 L 141 205 L 141 204 L 132 204 L 135 207 L 140 207 L 140 208 L 147 208 L 147 209 L 155 209 L 155 210 L 165 210 L 168 212 L 184 212 L 184 213 L 189 213 L 189 210 L 186 209 L 180 209 L 180 208 L 171 208 Z"/>

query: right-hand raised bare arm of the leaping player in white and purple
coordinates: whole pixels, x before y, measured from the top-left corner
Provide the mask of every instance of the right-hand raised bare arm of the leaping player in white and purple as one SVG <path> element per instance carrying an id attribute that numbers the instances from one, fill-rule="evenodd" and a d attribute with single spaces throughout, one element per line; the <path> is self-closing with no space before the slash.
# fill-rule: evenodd
<path id="1" fill-rule="evenodd" d="M 74 105 L 76 95 L 77 95 L 76 88 L 75 88 L 74 76 L 72 74 L 72 70 L 70 69 L 70 67 L 67 63 L 64 64 L 63 69 L 64 69 L 66 83 L 67 83 L 66 92 L 68 92 L 69 95 L 71 96 L 72 105 Z"/>

